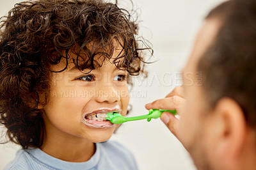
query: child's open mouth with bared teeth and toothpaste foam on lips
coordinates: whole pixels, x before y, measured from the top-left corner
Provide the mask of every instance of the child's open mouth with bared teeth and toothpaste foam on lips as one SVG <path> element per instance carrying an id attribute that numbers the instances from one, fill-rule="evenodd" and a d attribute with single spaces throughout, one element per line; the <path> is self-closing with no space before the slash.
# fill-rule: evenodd
<path id="1" fill-rule="evenodd" d="M 94 128 L 107 128 L 107 127 L 113 127 L 113 123 L 111 123 L 109 120 L 106 120 L 108 112 L 119 112 L 118 109 L 113 108 L 100 108 L 92 112 L 86 112 L 83 114 L 82 122 L 90 127 Z"/>

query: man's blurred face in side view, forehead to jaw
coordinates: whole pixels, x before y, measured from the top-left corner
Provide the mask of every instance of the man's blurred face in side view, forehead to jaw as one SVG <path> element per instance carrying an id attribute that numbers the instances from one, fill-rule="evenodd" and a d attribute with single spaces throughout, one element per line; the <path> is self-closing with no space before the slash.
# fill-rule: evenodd
<path id="1" fill-rule="evenodd" d="M 189 61 L 183 70 L 184 98 L 186 104 L 180 112 L 180 139 L 193 157 L 198 169 L 211 168 L 211 143 L 214 129 L 211 124 L 214 118 L 207 112 L 207 100 L 205 100 L 202 88 L 202 73 L 197 72 L 198 61 L 205 50 L 214 41 L 218 33 L 220 23 L 216 19 L 205 20 L 196 38 L 195 47 Z"/>

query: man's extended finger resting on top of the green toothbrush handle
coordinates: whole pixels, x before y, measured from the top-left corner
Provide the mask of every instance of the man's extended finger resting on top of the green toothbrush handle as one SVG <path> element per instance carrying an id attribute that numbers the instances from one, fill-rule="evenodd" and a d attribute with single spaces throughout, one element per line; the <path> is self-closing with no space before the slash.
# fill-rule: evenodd
<path id="1" fill-rule="evenodd" d="M 162 98 L 150 104 L 145 105 L 146 109 L 166 109 L 179 110 L 179 107 L 184 104 L 185 99 L 178 96 Z M 178 111 L 179 112 L 179 111 Z"/>

